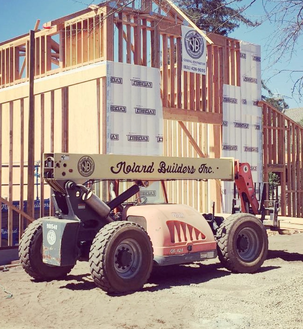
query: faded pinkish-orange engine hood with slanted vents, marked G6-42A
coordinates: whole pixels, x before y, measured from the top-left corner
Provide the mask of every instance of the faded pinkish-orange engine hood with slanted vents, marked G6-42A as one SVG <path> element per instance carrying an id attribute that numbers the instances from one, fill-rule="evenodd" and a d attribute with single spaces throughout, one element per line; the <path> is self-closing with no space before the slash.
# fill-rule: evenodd
<path id="1" fill-rule="evenodd" d="M 147 231 L 158 265 L 189 263 L 217 256 L 211 227 L 199 212 L 187 205 L 132 206 L 127 209 L 126 218 Z"/>

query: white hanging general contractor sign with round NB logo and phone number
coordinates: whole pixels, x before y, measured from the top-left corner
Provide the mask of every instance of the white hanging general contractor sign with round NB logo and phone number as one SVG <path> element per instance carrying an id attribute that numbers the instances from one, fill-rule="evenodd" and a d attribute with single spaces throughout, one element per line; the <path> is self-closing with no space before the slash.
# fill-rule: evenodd
<path id="1" fill-rule="evenodd" d="M 182 25 L 181 28 L 183 71 L 206 74 L 205 38 L 191 27 Z"/>

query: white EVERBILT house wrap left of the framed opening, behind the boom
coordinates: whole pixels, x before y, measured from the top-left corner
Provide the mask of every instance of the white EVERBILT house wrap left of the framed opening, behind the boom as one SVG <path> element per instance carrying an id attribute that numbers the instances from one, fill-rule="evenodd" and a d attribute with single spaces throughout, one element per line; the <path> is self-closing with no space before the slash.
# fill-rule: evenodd
<path id="1" fill-rule="evenodd" d="M 107 154 L 163 155 L 161 75 L 157 68 L 107 62 Z M 160 200 L 160 184 L 141 188 Z"/>

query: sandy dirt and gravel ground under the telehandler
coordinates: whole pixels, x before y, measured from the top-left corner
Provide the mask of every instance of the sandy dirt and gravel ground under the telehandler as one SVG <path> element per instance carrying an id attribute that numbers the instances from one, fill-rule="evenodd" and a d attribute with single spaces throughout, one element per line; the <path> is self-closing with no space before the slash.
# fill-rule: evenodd
<path id="1" fill-rule="evenodd" d="M 303 233 L 269 237 L 255 274 L 231 274 L 218 259 L 155 270 L 142 291 L 110 296 L 88 263 L 66 280 L 35 282 L 18 266 L 0 272 L 0 329 L 303 328 Z"/>

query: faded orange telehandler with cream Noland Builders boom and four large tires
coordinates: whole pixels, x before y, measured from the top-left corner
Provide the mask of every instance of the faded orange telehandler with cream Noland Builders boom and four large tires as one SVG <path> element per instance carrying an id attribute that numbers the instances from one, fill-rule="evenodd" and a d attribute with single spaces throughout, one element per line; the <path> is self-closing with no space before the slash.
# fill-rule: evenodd
<path id="1" fill-rule="evenodd" d="M 33 221 L 24 231 L 19 257 L 38 280 L 60 279 L 88 261 L 95 284 L 110 293 L 136 291 L 153 266 L 186 264 L 219 257 L 228 270 L 258 271 L 267 256 L 265 212 L 277 215 L 277 204 L 259 202 L 250 166 L 231 158 L 174 158 L 47 153 L 43 178 L 53 191 L 55 215 Z M 154 181 L 221 179 L 235 181 L 241 211 L 224 219 L 201 215 L 180 204 L 148 204 L 140 187 Z M 124 180 L 134 184 L 102 201 L 88 182 Z M 261 220 L 255 215 L 261 215 Z"/>

